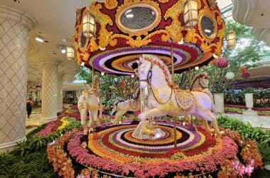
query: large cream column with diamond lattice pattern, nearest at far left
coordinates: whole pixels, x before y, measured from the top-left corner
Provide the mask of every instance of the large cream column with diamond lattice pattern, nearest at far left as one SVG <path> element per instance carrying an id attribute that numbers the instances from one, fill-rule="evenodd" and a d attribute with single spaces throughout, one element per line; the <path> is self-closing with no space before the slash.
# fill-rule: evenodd
<path id="1" fill-rule="evenodd" d="M 0 152 L 26 139 L 28 33 L 36 21 L 0 6 Z"/>

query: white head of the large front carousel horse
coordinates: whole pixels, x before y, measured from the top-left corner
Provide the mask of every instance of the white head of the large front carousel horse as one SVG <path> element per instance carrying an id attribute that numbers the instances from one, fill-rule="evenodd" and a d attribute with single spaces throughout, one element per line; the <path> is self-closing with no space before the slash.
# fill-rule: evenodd
<path id="1" fill-rule="evenodd" d="M 139 82 L 141 88 L 146 88 L 148 81 L 151 79 L 151 62 L 146 61 L 144 57 L 139 57 L 140 63 L 138 67 Z"/>

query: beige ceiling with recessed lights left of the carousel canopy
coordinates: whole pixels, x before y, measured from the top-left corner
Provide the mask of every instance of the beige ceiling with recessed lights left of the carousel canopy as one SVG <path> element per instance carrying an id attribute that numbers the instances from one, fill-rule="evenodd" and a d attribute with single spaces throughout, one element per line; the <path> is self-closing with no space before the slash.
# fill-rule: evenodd
<path id="1" fill-rule="evenodd" d="M 58 73 L 65 73 L 64 84 L 72 83 L 78 72 L 75 61 L 68 61 L 60 53 L 60 45 L 72 44 L 75 33 L 76 9 L 89 6 L 90 0 L 1 0 L 1 6 L 22 11 L 36 20 L 37 26 L 29 33 L 28 41 L 28 85 L 41 85 L 42 60 L 55 61 Z M 38 43 L 41 36 L 48 43 Z M 39 81 L 39 83 L 38 83 Z"/>

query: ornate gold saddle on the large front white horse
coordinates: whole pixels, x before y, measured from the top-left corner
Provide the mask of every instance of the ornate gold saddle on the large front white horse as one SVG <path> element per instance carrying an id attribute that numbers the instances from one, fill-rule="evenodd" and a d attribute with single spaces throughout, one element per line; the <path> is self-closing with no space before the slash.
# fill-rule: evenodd
<path id="1" fill-rule="evenodd" d="M 176 103 L 178 104 L 179 108 L 188 110 L 192 107 L 194 101 L 192 93 L 185 90 L 174 90 L 174 92 Z"/>

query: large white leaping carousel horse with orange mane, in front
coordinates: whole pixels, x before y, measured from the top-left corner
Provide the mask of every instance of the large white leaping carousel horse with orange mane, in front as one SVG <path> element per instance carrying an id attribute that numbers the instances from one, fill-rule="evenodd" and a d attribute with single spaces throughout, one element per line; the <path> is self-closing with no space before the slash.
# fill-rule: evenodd
<path id="1" fill-rule="evenodd" d="M 142 112 L 139 119 L 192 114 L 200 120 L 212 122 L 216 134 L 220 135 L 216 117 L 211 112 L 213 105 L 209 95 L 203 92 L 175 89 L 168 67 L 156 56 L 144 54 L 139 59 L 140 87 L 146 88 L 149 85 L 148 108 L 151 108 Z"/>

